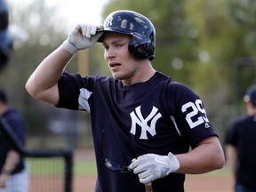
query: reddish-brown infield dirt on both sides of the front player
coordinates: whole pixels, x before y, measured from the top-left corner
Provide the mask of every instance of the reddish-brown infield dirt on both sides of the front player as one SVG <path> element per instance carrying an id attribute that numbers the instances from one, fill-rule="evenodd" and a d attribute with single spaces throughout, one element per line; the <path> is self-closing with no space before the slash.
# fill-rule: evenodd
<path id="1" fill-rule="evenodd" d="M 92 160 L 93 151 L 77 151 L 76 158 Z M 73 192 L 93 192 L 96 177 L 74 176 Z M 232 192 L 230 175 L 187 175 L 186 192 Z"/>

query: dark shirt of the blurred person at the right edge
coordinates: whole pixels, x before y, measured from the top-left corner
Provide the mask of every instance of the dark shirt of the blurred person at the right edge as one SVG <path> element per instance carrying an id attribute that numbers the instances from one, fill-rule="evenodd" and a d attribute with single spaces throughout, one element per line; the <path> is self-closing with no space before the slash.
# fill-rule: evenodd
<path id="1" fill-rule="evenodd" d="M 241 116 L 230 124 L 226 143 L 236 147 L 236 182 L 256 191 L 256 116 Z"/>

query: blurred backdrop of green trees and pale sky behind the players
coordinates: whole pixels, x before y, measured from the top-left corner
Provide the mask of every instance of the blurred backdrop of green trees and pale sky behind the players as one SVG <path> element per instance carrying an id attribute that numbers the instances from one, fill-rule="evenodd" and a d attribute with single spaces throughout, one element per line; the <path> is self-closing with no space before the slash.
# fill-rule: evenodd
<path id="1" fill-rule="evenodd" d="M 7 0 L 13 52 L 0 74 L 27 124 L 27 146 L 92 148 L 86 112 L 54 108 L 25 90 L 28 76 L 78 22 L 100 24 L 108 13 L 129 9 L 156 27 L 153 66 L 187 84 L 203 100 L 224 143 L 230 120 L 245 113 L 243 97 L 256 84 L 255 0 Z M 83 58 L 83 60 L 81 60 Z M 76 54 L 67 70 L 110 75 L 103 48 Z"/>

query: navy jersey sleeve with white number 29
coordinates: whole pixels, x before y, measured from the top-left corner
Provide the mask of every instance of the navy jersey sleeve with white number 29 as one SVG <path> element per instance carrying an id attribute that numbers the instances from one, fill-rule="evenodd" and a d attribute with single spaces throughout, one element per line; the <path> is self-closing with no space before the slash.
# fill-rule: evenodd
<path id="1" fill-rule="evenodd" d="M 209 122 L 202 100 L 188 86 L 172 82 L 168 87 L 168 97 L 177 129 L 192 148 L 204 138 L 218 136 Z"/>

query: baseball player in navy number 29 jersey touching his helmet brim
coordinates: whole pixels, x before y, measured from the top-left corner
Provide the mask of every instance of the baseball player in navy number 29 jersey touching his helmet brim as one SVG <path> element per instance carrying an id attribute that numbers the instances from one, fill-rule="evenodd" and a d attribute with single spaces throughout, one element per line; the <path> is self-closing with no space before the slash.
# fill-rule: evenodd
<path id="1" fill-rule="evenodd" d="M 64 71 L 76 52 L 96 42 L 112 76 Z M 37 99 L 91 114 L 97 192 L 142 192 L 148 183 L 154 192 L 181 192 L 185 173 L 224 164 L 202 100 L 152 67 L 155 47 L 148 18 L 111 12 L 103 26 L 78 24 L 28 78 L 26 89 Z"/>

